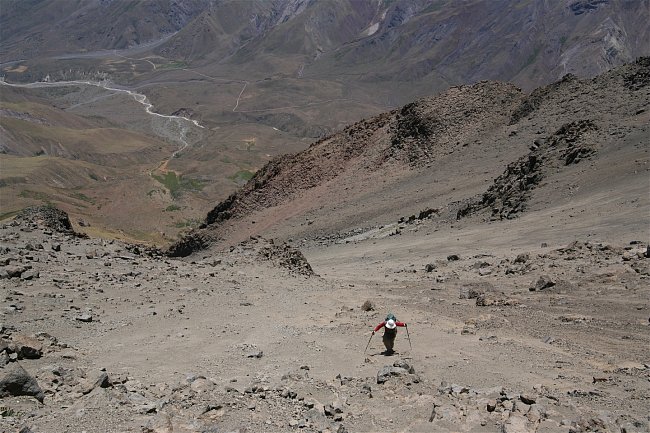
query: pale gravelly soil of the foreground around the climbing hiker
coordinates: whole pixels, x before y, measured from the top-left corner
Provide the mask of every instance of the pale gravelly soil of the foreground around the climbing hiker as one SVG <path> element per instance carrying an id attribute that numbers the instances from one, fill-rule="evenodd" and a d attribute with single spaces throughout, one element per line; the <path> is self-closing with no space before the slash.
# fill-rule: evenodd
<path id="1" fill-rule="evenodd" d="M 533 222 L 443 230 L 424 221 L 384 239 L 305 248 L 320 276 L 263 259 L 262 239 L 170 260 L 7 225 L 3 257 L 40 276 L 0 280 L 6 340 L 46 332 L 58 344 L 37 334 L 43 356 L 18 361 L 46 397 L 2 399 L 13 415 L 2 428 L 647 430 L 647 244 L 630 245 L 640 236 L 620 227 L 609 233 L 617 243 L 601 242 L 604 232 L 575 244 L 554 230 L 520 236 Z M 522 253 L 528 259 L 515 263 Z M 435 269 L 426 272 L 426 264 Z M 540 276 L 556 285 L 529 291 Z M 463 298 L 469 289 L 495 304 Z M 365 301 L 374 310 L 362 310 Z M 389 357 L 380 331 L 364 355 L 388 311 L 409 335 L 400 328 Z M 92 322 L 75 320 L 84 313 Z M 378 384 L 378 371 L 397 360 L 415 375 Z M 100 369 L 111 386 L 93 388 Z M 519 394 L 535 398 L 535 409 Z M 502 397 L 488 412 L 490 399 Z"/>

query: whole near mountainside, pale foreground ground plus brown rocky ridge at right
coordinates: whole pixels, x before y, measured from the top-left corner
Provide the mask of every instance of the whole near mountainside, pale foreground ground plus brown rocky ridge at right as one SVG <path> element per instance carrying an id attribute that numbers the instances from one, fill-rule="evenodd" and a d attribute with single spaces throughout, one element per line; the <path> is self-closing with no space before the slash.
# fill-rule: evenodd
<path id="1" fill-rule="evenodd" d="M 20 213 L 0 430 L 650 431 L 649 68 L 359 122 L 261 170 L 186 259 Z"/>

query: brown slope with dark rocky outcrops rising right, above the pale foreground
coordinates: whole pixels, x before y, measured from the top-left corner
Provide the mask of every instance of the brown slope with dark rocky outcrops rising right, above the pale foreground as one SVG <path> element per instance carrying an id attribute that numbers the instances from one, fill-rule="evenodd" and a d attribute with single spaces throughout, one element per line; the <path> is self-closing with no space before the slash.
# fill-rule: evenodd
<path id="1" fill-rule="evenodd" d="M 478 83 L 359 122 L 269 163 L 171 252 L 251 234 L 335 235 L 425 208 L 441 221 L 508 218 L 577 199 L 591 211 L 590 197 L 611 187 L 640 194 L 639 174 L 629 173 L 647 163 L 649 77 L 643 58 L 528 96 Z"/>

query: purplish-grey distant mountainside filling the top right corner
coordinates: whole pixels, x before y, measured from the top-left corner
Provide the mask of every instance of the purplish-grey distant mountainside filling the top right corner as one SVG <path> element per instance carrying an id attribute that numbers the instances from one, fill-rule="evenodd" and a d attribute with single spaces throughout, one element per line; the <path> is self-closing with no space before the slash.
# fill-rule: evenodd
<path id="1" fill-rule="evenodd" d="M 365 80 L 447 84 L 497 79 L 530 89 L 647 55 L 647 1 L 578 3 L 398 2 L 376 33 L 326 54 L 307 73 L 356 69 Z"/>

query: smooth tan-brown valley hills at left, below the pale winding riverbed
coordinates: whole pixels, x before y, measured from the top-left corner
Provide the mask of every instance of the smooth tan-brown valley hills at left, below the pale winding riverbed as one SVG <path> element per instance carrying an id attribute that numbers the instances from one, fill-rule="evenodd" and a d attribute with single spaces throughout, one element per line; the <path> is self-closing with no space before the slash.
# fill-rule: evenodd
<path id="1" fill-rule="evenodd" d="M 70 212 L 75 223 L 83 220 L 83 230 L 95 235 L 165 242 L 193 217 L 185 202 L 204 183 L 166 168 L 178 144 L 147 130 L 157 124 L 132 98 L 109 95 L 115 113 L 139 122 L 143 131 L 94 116 L 87 106 L 75 112 L 53 105 L 33 89 L 0 90 L 3 218 L 29 205 L 49 204 Z M 40 92 L 66 96 L 75 89 Z M 105 92 L 89 92 L 106 102 Z"/>

